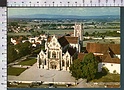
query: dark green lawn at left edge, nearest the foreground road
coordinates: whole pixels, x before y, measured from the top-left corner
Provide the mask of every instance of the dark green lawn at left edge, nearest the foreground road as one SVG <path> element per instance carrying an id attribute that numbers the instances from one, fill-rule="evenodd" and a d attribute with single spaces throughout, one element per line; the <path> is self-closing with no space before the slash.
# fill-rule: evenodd
<path id="1" fill-rule="evenodd" d="M 25 70 L 26 68 L 15 68 L 15 67 L 9 67 L 7 69 L 8 75 L 14 75 L 14 76 L 19 76 Z"/>

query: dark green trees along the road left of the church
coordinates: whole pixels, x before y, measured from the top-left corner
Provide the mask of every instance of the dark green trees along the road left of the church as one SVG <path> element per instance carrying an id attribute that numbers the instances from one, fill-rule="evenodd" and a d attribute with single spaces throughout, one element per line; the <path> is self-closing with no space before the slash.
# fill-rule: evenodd
<path id="1" fill-rule="evenodd" d="M 19 43 L 17 45 L 9 44 L 7 46 L 7 61 L 8 63 L 11 63 L 15 61 L 16 59 L 28 55 L 31 53 L 31 43 L 25 42 L 25 43 Z"/>

